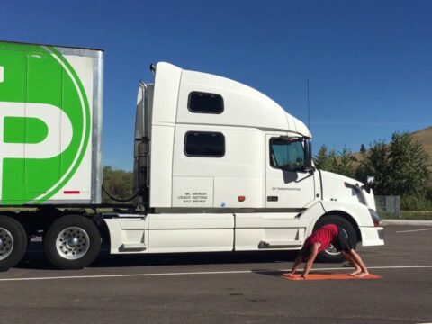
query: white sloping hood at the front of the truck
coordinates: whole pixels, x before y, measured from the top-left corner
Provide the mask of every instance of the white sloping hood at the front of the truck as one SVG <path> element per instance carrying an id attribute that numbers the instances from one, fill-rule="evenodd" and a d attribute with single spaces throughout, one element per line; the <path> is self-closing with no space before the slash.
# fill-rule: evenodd
<path id="1" fill-rule="evenodd" d="M 320 171 L 320 174 L 323 200 L 361 203 L 376 211 L 374 192 L 371 189 L 368 193 L 365 184 L 356 179 L 328 171 Z"/>

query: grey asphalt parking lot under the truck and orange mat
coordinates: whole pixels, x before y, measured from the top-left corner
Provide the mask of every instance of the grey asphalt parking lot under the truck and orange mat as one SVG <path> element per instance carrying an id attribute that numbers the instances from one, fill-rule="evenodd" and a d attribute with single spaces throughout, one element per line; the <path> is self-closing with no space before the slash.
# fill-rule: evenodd
<path id="1" fill-rule="evenodd" d="M 293 252 L 105 253 L 84 270 L 59 271 L 34 243 L 0 273 L 0 323 L 432 322 L 432 226 L 389 225 L 385 239 L 358 249 L 382 279 L 306 282 L 280 276 Z"/>

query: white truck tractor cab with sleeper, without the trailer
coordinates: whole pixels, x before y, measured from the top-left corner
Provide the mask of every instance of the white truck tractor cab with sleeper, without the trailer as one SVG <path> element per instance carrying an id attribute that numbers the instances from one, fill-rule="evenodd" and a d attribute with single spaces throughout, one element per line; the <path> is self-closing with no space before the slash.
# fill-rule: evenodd
<path id="1" fill-rule="evenodd" d="M 302 121 L 247 85 L 167 63 L 153 70 L 135 130 L 136 203 L 149 202 L 148 213 L 105 220 L 112 254 L 299 249 L 328 222 L 354 246 L 383 244 L 374 194 L 312 166 Z"/>

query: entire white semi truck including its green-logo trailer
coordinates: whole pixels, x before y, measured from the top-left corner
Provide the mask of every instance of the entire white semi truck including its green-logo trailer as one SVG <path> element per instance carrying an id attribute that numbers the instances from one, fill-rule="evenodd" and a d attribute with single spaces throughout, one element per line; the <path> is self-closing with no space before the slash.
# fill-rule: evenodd
<path id="1" fill-rule="evenodd" d="M 329 222 L 354 246 L 383 245 L 374 193 L 316 169 L 302 121 L 227 78 L 151 69 L 137 101 L 136 197 L 102 213 L 103 50 L 0 42 L 1 270 L 36 236 L 62 269 L 89 265 L 102 243 L 112 254 L 295 250 Z"/>

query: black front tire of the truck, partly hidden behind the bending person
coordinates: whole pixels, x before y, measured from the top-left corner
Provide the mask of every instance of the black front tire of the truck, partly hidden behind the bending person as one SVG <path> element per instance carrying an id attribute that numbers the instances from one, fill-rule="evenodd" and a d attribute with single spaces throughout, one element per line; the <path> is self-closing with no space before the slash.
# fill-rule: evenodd
<path id="1" fill-rule="evenodd" d="M 320 227 L 327 224 L 335 224 L 345 230 L 349 239 L 349 243 L 351 243 L 351 246 L 356 249 L 358 243 L 357 232 L 356 229 L 354 229 L 353 225 L 349 222 L 349 220 L 337 215 L 325 216 L 317 221 L 314 229 L 320 229 Z M 317 259 L 320 262 L 324 263 L 341 263 L 345 260 L 345 258 L 342 257 L 342 254 L 336 251 L 332 246 L 322 251 L 317 256 Z"/>

